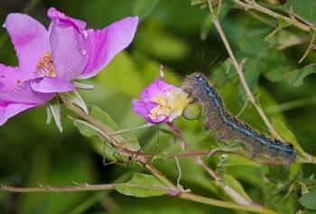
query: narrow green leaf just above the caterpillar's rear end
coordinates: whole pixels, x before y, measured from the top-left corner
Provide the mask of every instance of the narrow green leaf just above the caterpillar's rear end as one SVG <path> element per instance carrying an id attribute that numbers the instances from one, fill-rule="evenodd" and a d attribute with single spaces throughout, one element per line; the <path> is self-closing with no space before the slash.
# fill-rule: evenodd
<path id="1" fill-rule="evenodd" d="M 299 155 L 304 156 L 304 151 L 302 150 L 301 145 L 297 142 L 294 134 L 290 129 L 288 129 L 281 120 L 272 120 L 272 125 L 277 133 L 287 142 L 293 144 L 295 150 Z"/>

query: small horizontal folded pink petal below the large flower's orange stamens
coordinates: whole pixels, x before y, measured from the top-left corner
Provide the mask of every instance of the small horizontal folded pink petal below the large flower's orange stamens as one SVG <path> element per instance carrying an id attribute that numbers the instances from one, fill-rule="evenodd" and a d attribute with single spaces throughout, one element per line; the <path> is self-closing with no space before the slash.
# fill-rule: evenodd
<path id="1" fill-rule="evenodd" d="M 75 91 L 76 87 L 65 79 L 44 77 L 31 82 L 33 91 L 40 93 L 65 93 Z"/>

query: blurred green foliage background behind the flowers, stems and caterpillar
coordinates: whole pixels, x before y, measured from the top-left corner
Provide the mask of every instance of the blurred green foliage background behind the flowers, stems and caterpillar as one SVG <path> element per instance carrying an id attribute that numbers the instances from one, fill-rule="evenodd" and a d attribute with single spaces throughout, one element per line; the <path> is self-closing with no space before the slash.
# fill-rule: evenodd
<path id="1" fill-rule="evenodd" d="M 299 0 L 298 0 L 299 1 Z M 302 0 L 300 0 L 302 1 Z M 146 3 L 147 2 L 147 3 Z M 283 6 L 272 6 L 280 11 L 295 1 Z M 49 25 L 46 11 L 54 6 L 63 13 L 88 22 L 88 28 L 103 28 L 107 24 L 133 14 L 141 15 L 141 22 L 134 42 L 104 68 L 96 77 L 83 81 L 95 85 L 93 91 L 82 91 L 85 101 L 107 111 L 122 128 L 144 124 L 131 110 L 131 101 L 137 98 L 144 85 L 158 75 L 159 65 L 165 67 L 166 80 L 181 85 L 181 78 L 193 71 L 206 73 L 223 96 L 228 110 L 234 114 L 244 105 L 245 93 L 240 86 L 235 70 L 229 67 L 228 55 L 217 32 L 209 22 L 209 11 L 200 6 L 191 6 L 190 0 L 0 0 L 0 22 L 5 22 L 8 13 L 27 12 Z M 309 21 L 314 14 L 297 10 Z M 269 17 L 265 19 L 276 25 Z M 298 64 L 308 43 L 278 50 L 275 47 L 286 43 L 289 34 L 306 38 L 306 33 L 290 29 L 277 34 L 274 42 L 263 40 L 273 27 L 260 22 L 250 13 L 237 10 L 230 1 L 225 1 L 220 22 L 231 42 L 237 58 L 247 58 L 245 75 L 248 84 L 265 108 L 269 118 L 282 120 L 291 129 L 306 152 L 316 154 L 316 79 L 307 76 L 303 85 L 293 87 L 284 77 L 296 68 L 311 64 L 316 55 L 311 53 L 302 65 Z M 308 41 L 307 41 L 308 42 Z M 4 29 L 0 30 L 0 62 L 17 65 L 14 48 Z M 279 104 L 301 100 L 298 106 Z M 295 103 L 294 103 L 295 104 Z M 126 181 L 134 166 L 103 165 L 102 145 L 82 137 L 71 121 L 68 111 L 62 111 L 63 133 L 53 123 L 46 124 L 45 107 L 23 112 L 0 128 L 0 183 L 14 186 L 50 184 L 71 186 L 73 183 L 113 183 Z M 250 106 L 241 118 L 256 129 L 266 133 L 265 126 Z M 192 147 L 209 148 L 214 140 L 202 130 L 201 121 L 176 121 L 179 129 Z M 153 151 L 157 143 L 157 129 L 149 128 L 136 132 L 138 141 L 146 151 Z M 160 132 L 158 151 L 178 149 L 169 146 L 172 136 Z M 210 160 L 215 165 L 218 160 Z M 174 160 L 158 161 L 159 168 L 172 181 L 176 180 Z M 194 192 L 211 197 L 224 198 L 209 177 L 190 158 L 181 160 L 182 184 Z M 279 168 L 277 168 L 279 169 Z M 283 213 L 293 213 L 300 205 L 298 196 L 291 194 L 282 201 L 282 195 L 267 193 L 271 187 L 262 186 L 260 175 L 254 166 L 230 165 L 218 167 L 232 174 L 244 185 L 254 201 L 260 201 Z M 274 174 L 274 168 L 262 166 L 264 172 Z M 316 172 L 314 165 L 303 165 L 302 175 L 308 177 Z M 117 180 L 118 179 L 118 180 Z M 278 177 L 277 179 L 282 179 Z M 215 189 L 214 189 L 215 188 Z M 269 189 L 270 188 L 270 189 Z M 265 192 L 267 190 L 267 192 Z M 286 190 L 285 190 L 286 191 Z M 280 202 L 281 201 L 281 202 Z M 15 194 L 0 192 L 0 213 L 232 213 L 233 210 L 218 209 L 176 198 L 153 197 L 138 199 L 116 192 L 72 192 Z"/>

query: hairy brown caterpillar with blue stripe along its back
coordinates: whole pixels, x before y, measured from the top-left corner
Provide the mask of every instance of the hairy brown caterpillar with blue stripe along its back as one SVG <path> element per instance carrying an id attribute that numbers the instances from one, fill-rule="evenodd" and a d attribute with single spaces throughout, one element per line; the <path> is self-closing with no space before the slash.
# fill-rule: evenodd
<path id="1" fill-rule="evenodd" d="M 205 129 L 211 129 L 219 141 L 240 141 L 241 152 L 257 162 L 267 165 L 290 165 L 296 158 L 292 144 L 267 138 L 225 111 L 223 103 L 206 76 L 194 73 L 182 84 L 193 102 L 200 104 L 205 117 Z"/>

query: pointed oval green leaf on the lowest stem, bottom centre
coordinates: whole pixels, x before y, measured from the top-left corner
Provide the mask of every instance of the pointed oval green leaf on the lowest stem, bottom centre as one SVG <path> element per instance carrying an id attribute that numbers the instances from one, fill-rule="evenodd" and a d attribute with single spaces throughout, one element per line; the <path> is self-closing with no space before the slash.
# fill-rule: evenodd
<path id="1" fill-rule="evenodd" d="M 168 188 L 153 175 L 135 173 L 127 183 L 116 184 L 116 191 L 125 195 L 145 198 L 164 195 L 168 192 Z"/>

